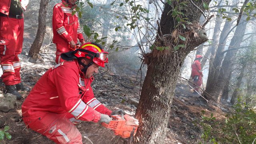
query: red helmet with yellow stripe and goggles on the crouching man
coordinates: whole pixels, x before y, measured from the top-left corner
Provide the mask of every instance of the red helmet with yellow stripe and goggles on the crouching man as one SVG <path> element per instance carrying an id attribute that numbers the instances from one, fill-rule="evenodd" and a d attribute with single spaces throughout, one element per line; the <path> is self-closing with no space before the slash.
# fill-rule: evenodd
<path id="1" fill-rule="evenodd" d="M 108 63 L 108 52 L 105 52 L 100 44 L 94 42 L 87 42 L 80 46 L 74 56 L 87 58 L 102 67 L 105 66 L 105 62 Z"/>

